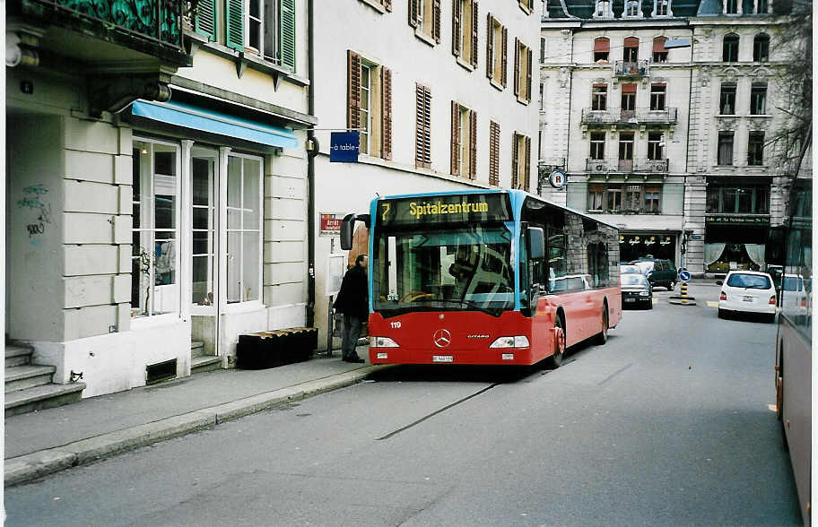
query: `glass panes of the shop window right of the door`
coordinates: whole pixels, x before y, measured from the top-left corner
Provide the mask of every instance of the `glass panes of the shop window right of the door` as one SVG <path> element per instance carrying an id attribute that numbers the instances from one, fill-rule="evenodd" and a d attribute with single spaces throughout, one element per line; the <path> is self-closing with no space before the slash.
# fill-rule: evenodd
<path id="1" fill-rule="evenodd" d="M 227 161 L 227 302 L 261 300 L 262 160 Z"/>

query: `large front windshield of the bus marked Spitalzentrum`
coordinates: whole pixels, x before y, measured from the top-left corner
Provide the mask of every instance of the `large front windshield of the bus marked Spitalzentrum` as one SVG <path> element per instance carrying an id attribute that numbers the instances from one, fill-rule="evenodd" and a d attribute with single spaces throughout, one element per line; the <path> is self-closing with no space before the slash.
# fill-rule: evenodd
<path id="1" fill-rule="evenodd" d="M 373 307 L 406 311 L 483 311 L 514 307 L 511 231 L 503 224 L 389 229 L 375 240 Z"/>

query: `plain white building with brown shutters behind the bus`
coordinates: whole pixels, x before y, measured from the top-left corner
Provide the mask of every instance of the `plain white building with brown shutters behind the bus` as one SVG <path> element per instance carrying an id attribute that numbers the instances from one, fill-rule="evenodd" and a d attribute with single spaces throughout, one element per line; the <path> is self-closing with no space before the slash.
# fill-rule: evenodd
<path id="1" fill-rule="evenodd" d="M 316 212 L 368 212 L 377 195 L 535 188 L 533 0 L 344 0 L 315 13 Z M 356 163 L 330 162 L 331 131 L 360 130 Z M 534 149 L 534 152 L 532 152 Z M 316 322 L 326 346 L 326 265 L 316 227 Z"/>

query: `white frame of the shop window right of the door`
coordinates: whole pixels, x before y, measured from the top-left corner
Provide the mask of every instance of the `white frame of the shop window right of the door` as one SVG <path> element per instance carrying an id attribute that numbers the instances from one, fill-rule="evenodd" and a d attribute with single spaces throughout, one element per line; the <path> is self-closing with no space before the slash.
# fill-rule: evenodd
<path id="1" fill-rule="evenodd" d="M 258 283 L 258 298 L 253 298 L 250 300 L 240 300 L 238 302 L 228 302 L 229 291 L 230 291 L 230 284 L 227 281 L 227 256 L 228 252 L 230 251 L 230 246 L 228 245 L 228 233 L 231 231 L 236 231 L 237 229 L 230 229 L 230 225 L 227 219 L 227 192 L 228 187 L 230 186 L 230 171 L 228 168 L 228 161 L 230 158 L 239 158 L 241 160 L 241 196 L 242 196 L 242 205 L 244 204 L 244 167 L 245 163 L 244 160 L 256 160 L 258 162 L 258 267 L 257 267 L 257 283 Z M 220 284 L 223 284 L 223 294 L 221 295 L 220 299 L 220 310 L 222 313 L 230 312 L 242 312 L 242 311 L 251 311 L 255 309 L 260 309 L 264 307 L 264 166 L 265 160 L 262 156 L 251 155 L 251 154 L 244 154 L 230 151 L 230 149 L 222 149 L 222 174 L 223 174 L 223 181 L 224 184 L 220 186 L 220 216 L 222 220 L 222 225 L 224 226 L 223 229 L 220 229 L 219 240 L 220 244 L 223 247 L 220 250 Z M 243 209 L 243 207 L 242 207 Z M 245 229 L 242 224 L 240 232 L 247 232 L 256 229 Z M 242 244 L 242 251 L 243 251 L 243 244 Z M 244 270 L 241 269 L 242 277 L 243 277 Z M 243 283 L 243 281 L 242 281 Z M 242 289 L 244 289 L 242 285 Z M 243 291 L 240 293 L 243 295 Z"/>

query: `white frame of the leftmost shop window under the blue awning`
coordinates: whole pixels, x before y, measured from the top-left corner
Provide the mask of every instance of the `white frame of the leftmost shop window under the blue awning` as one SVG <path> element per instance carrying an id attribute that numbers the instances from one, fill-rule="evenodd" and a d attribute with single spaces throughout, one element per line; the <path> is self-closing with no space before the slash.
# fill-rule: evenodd
<path id="1" fill-rule="evenodd" d="M 159 140 L 150 139 L 150 138 L 147 138 L 147 137 L 140 137 L 140 136 L 134 136 L 133 137 L 133 143 L 134 144 L 135 143 L 150 143 L 152 145 L 157 144 L 157 145 L 161 145 L 162 147 L 165 147 L 165 148 L 172 148 L 176 152 L 176 168 L 175 168 L 176 169 L 176 206 L 175 206 L 175 211 L 174 211 L 174 214 L 175 214 L 175 219 L 174 220 L 175 220 L 175 225 L 176 225 L 176 228 L 174 229 L 176 231 L 176 238 L 174 238 L 174 239 L 176 241 L 176 251 L 175 251 L 175 254 L 174 254 L 173 265 L 174 265 L 174 269 L 176 270 L 176 281 L 175 281 L 174 285 L 176 286 L 176 289 L 177 289 L 176 294 L 177 294 L 178 298 L 177 298 L 177 307 L 176 307 L 176 309 L 173 310 L 173 311 L 170 311 L 168 313 L 160 313 L 158 315 L 152 315 L 152 313 L 151 313 L 151 311 L 153 310 L 152 301 L 155 300 L 155 298 L 156 298 L 156 288 L 157 287 L 167 287 L 167 286 L 156 286 L 156 284 L 155 284 L 155 272 L 156 272 L 156 270 L 155 270 L 155 253 L 154 253 L 155 248 L 154 247 L 155 247 L 155 243 L 156 243 L 156 235 L 155 235 L 156 229 L 155 229 L 155 217 L 154 217 L 155 216 L 155 210 L 154 210 L 154 205 L 153 205 L 153 199 L 154 199 L 153 198 L 153 196 L 154 196 L 154 188 L 153 188 L 153 176 L 154 176 L 153 149 L 151 149 L 151 151 L 150 151 L 151 159 L 148 161 L 150 163 L 149 172 L 151 174 L 150 181 L 148 182 L 149 183 L 148 186 L 150 188 L 150 196 L 151 196 L 150 204 L 146 207 L 145 203 L 139 202 L 136 195 L 134 195 L 134 197 L 133 197 L 134 203 L 139 203 L 139 205 L 140 205 L 139 206 L 140 215 L 144 214 L 144 212 L 146 212 L 146 210 L 147 210 L 147 211 L 150 211 L 149 212 L 150 216 L 149 216 L 148 221 L 147 221 L 147 223 L 148 223 L 147 226 L 145 226 L 145 224 L 144 224 L 145 221 L 142 220 L 142 218 L 144 218 L 144 217 L 141 216 L 139 229 L 131 229 L 131 231 L 134 232 L 135 230 L 139 230 L 141 232 L 141 231 L 146 231 L 147 230 L 147 231 L 151 231 L 151 233 L 152 233 L 151 234 L 152 246 L 149 247 L 151 265 L 150 265 L 150 276 L 148 278 L 149 283 L 151 284 L 151 286 L 150 286 L 151 287 L 150 310 L 148 310 L 148 313 L 146 313 L 144 315 L 131 315 L 131 317 L 130 317 L 131 328 L 132 329 L 139 329 L 139 328 L 144 328 L 145 326 L 152 326 L 152 325 L 156 325 L 156 324 L 168 324 L 168 323 L 176 322 L 176 321 L 179 320 L 179 318 L 181 317 L 182 302 L 184 301 L 183 296 L 182 296 L 182 289 L 184 289 L 182 281 L 185 280 L 184 277 L 187 276 L 187 275 L 185 273 L 183 273 L 182 269 L 181 269 L 181 243 L 182 243 L 182 232 L 183 232 L 182 225 L 181 225 L 181 219 L 182 219 L 182 214 L 181 214 L 181 212 L 182 212 L 182 200 L 181 200 L 181 197 L 182 197 L 182 192 L 181 192 L 181 188 L 182 188 L 182 159 L 181 159 L 182 151 L 181 151 L 181 147 L 180 147 L 180 145 L 178 143 L 159 141 Z M 141 174 L 134 174 L 133 177 L 140 177 L 141 178 L 142 175 Z M 144 185 L 145 185 L 145 182 L 142 179 L 140 179 L 140 188 L 144 189 L 145 188 Z M 144 192 L 144 190 L 143 190 L 143 192 Z M 131 261 L 133 262 L 133 260 L 135 258 L 138 258 L 138 257 L 139 256 L 134 256 L 133 251 L 132 251 Z M 133 291 L 132 291 L 132 293 L 133 293 Z M 146 306 L 146 310 L 147 310 L 147 307 L 148 306 Z M 133 307 L 132 307 L 132 309 L 133 309 Z M 132 311 L 132 313 L 133 313 L 133 311 Z"/>

